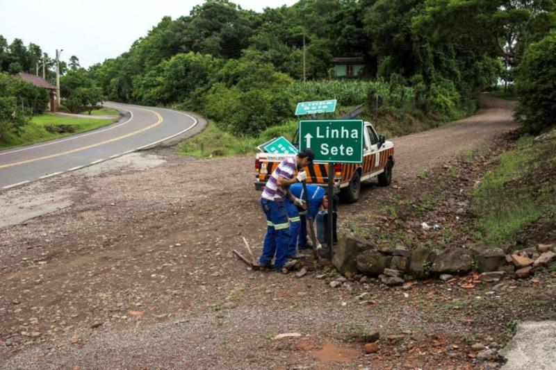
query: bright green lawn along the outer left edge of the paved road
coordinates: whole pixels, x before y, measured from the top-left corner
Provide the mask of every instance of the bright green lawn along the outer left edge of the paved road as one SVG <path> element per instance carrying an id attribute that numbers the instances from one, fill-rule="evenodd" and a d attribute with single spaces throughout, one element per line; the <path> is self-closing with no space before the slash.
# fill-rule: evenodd
<path id="1" fill-rule="evenodd" d="M 43 115 L 34 116 L 31 121 L 22 128 L 21 132 L 6 133 L 0 142 L 0 148 L 9 148 L 11 146 L 34 144 L 58 139 L 76 133 L 95 130 L 95 128 L 112 124 L 115 121 L 116 119 L 57 117 L 51 113 L 44 113 Z M 63 131 L 65 132 L 56 133 L 47 130 L 47 128 L 57 127 L 63 127 Z"/>

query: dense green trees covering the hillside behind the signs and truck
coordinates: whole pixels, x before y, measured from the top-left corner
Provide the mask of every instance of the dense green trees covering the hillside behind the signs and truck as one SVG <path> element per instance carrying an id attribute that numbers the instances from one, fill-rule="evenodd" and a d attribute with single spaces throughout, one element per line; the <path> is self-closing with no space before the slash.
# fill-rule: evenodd
<path id="1" fill-rule="evenodd" d="M 378 95 L 389 108 L 454 119 L 498 78 L 511 81 L 527 45 L 556 25 L 553 9 L 553 0 L 301 0 L 257 13 L 208 0 L 90 75 L 108 99 L 197 110 L 236 134 L 281 124 L 297 101 L 334 97 L 373 108 Z M 384 82 L 322 81 L 335 56 L 362 57 L 361 78 Z"/>

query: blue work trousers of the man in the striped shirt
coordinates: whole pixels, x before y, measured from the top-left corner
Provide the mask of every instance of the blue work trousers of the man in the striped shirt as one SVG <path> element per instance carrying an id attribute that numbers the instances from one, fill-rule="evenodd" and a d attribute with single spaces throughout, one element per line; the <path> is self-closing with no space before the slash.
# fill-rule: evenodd
<path id="1" fill-rule="evenodd" d="M 284 201 L 269 201 L 261 198 L 261 207 L 266 215 L 266 235 L 260 264 L 270 264 L 273 257 L 275 269 L 280 271 L 287 262 L 290 230 L 288 213 Z"/>

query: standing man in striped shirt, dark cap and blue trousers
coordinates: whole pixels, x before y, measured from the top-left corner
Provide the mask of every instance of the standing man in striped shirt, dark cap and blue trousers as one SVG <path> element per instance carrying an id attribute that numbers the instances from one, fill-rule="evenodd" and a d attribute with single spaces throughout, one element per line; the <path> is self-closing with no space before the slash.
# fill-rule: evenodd
<path id="1" fill-rule="evenodd" d="M 274 267 L 277 271 L 287 272 L 297 266 L 297 260 L 288 261 L 290 231 L 285 201 L 288 196 L 295 205 L 304 207 L 304 201 L 291 195 L 289 186 L 306 180 L 306 173 L 300 170 L 307 167 L 314 156 L 311 149 L 304 149 L 295 157 L 285 158 L 272 171 L 263 189 L 261 206 L 266 216 L 267 227 L 263 254 L 259 258 L 261 267 L 272 267 L 272 258 L 275 258 Z M 297 176 L 294 176 L 295 171 L 299 171 Z"/>

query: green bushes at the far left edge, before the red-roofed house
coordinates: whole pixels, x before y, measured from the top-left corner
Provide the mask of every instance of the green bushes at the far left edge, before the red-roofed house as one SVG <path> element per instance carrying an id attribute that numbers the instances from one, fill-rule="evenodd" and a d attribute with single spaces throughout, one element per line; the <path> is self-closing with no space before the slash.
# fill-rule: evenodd
<path id="1" fill-rule="evenodd" d="M 19 133 L 31 115 L 44 112 L 47 103 L 46 90 L 0 73 L 0 141 L 7 133 Z"/>

